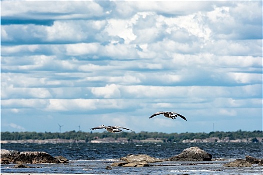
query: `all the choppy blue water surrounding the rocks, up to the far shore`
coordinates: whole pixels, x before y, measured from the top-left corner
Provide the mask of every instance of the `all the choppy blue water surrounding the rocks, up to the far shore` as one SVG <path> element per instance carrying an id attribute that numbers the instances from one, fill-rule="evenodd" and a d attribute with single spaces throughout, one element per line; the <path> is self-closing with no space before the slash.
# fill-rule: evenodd
<path id="1" fill-rule="evenodd" d="M 128 154 L 147 154 L 156 158 L 178 155 L 184 149 L 198 146 L 213 155 L 209 162 L 160 162 L 152 167 L 105 167 Z M 75 174 L 263 174 L 263 167 L 223 167 L 222 165 L 246 155 L 263 158 L 261 143 L 59 143 L 59 144 L 1 144 L 1 149 L 45 151 L 62 155 L 69 164 L 36 164 L 38 168 L 11 168 L 1 165 L 1 173 L 75 173 Z M 220 170 L 220 171 L 218 171 Z"/>

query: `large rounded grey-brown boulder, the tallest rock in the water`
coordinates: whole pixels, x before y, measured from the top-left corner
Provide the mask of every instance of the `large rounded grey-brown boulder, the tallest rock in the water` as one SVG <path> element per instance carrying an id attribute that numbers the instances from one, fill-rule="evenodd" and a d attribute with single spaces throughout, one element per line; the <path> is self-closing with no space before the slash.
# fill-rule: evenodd
<path id="1" fill-rule="evenodd" d="M 199 147 L 190 147 L 184 149 L 179 155 L 170 157 L 168 161 L 211 161 L 212 155 L 200 149 Z"/>

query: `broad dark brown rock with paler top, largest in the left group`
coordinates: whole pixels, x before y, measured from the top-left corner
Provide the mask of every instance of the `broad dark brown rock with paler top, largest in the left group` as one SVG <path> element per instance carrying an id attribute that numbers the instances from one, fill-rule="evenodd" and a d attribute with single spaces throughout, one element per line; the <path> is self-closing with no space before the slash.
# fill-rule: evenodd
<path id="1" fill-rule="evenodd" d="M 60 163 L 60 161 L 46 152 L 20 152 L 20 154 L 14 158 L 13 163 L 37 164 L 37 163 Z"/>

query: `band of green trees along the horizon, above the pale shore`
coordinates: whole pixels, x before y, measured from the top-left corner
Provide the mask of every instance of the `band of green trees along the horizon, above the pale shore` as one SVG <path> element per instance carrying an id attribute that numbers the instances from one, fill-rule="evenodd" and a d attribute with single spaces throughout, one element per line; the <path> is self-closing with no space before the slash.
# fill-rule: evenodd
<path id="1" fill-rule="evenodd" d="M 128 141 L 132 140 L 144 140 L 148 138 L 161 139 L 165 142 L 181 142 L 185 139 L 206 139 L 211 137 L 218 137 L 219 139 L 223 139 L 228 137 L 230 140 L 234 139 L 243 139 L 243 138 L 253 138 L 255 142 L 256 137 L 263 137 L 263 131 L 255 130 L 255 131 L 242 131 L 238 130 L 236 132 L 210 132 L 210 133 L 162 133 L 162 132 L 120 132 L 117 134 L 112 134 L 109 132 L 82 132 L 75 130 L 58 133 L 58 132 L 1 132 L 1 140 L 45 140 L 45 139 L 73 139 L 73 140 L 85 140 L 85 142 L 89 142 L 91 140 L 97 138 L 127 138 Z"/>

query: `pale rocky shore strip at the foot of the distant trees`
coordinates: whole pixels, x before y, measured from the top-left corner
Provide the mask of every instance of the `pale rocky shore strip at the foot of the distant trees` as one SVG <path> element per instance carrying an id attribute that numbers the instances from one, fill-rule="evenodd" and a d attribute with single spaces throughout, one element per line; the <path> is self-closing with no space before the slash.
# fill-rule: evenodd
<path id="1" fill-rule="evenodd" d="M 259 143 L 262 143 L 263 137 L 257 137 Z M 230 139 L 225 137 L 219 139 L 218 137 L 211 137 L 205 139 L 185 139 L 181 143 L 252 143 L 253 138 L 243 138 L 243 139 Z M 76 139 L 27 139 L 27 140 L 1 140 L 1 144 L 7 143 L 36 143 L 36 144 L 45 144 L 45 143 L 85 143 L 85 140 L 76 140 Z M 144 140 L 128 140 L 127 138 L 98 138 L 91 140 L 87 143 L 165 143 L 163 139 L 154 139 L 148 138 Z"/>

